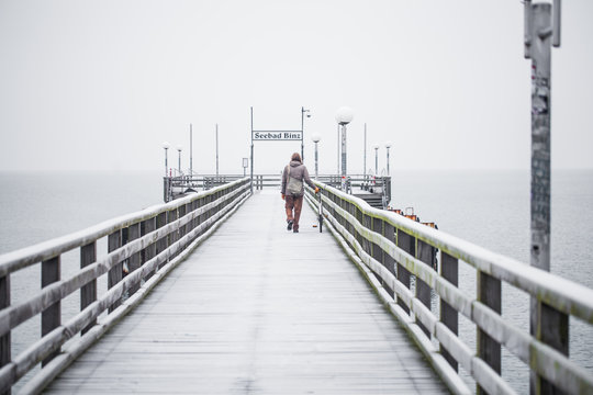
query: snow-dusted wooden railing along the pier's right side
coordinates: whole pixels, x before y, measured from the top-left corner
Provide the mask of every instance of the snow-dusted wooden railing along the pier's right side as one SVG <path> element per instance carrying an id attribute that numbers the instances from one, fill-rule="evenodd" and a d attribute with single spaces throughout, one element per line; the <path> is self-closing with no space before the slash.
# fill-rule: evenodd
<path id="1" fill-rule="evenodd" d="M 315 181 L 322 190 L 324 213 L 351 258 L 368 272 L 389 305 L 437 372 L 455 393 L 458 363 L 488 393 L 513 394 L 500 373 L 501 345 L 529 369 L 567 393 L 593 393 L 593 379 L 562 352 L 540 338 L 505 321 L 501 315 L 501 282 L 528 293 L 534 300 L 593 324 L 593 290 L 482 247 L 433 229 Z M 312 191 L 307 199 L 312 207 Z M 432 268 L 439 251 L 439 268 Z M 458 262 L 477 270 L 477 296 L 458 289 Z M 372 273 L 372 274 L 371 274 Z M 415 293 L 411 291 L 415 278 Z M 430 311 L 430 290 L 440 298 L 440 317 Z M 477 351 L 457 336 L 458 314 L 478 328 Z M 561 324 L 558 324 L 561 325 Z M 430 342 L 440 343 L 437 350 Z M 446 361 L 446 362 L 445 362 Z"/>

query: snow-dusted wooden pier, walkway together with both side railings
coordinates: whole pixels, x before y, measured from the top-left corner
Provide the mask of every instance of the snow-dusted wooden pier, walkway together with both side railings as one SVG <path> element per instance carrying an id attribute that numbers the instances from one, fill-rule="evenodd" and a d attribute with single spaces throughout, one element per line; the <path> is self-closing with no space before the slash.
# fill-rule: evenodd
<path id="1" fill-rule="evenodd" d="M 287 232 L 278 189 L 243 178 L 0 256 L 0 394 L 513 395 L 503 348 L 545 384 L 535 393 L 593 393 L 550 336 L 593 325 L 593 290 L 316 185 L 324 233 L 306 205 Z M 80 269 L 63 278 L 72 252 Z M 11 276 L 34 268 L 41 290 L 12 303 Z M 505 319 L 503 283 L 561 319 L 536 335 Z M 41 339 L 13 354 L 35 320 Z"/>

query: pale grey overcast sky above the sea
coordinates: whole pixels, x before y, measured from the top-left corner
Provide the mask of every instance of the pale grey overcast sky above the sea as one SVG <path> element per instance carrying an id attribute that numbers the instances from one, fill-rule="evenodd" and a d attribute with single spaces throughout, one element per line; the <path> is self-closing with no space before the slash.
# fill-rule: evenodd
<path id="1" fill-rule="evenodd" d="M 552 167 L 592 168 L 593 1 L 563 2 L 552 49 Z M 335 112 L 354 109 L 348 169 L 392 140 L 392 169 L 528 169 L 530 60 L 518 0 L 0 0 L 0 170 L 240 172 L 255 128 L 322 136 L 337 170 Z M 256 143 L 256 172 L 300 143 Z M 177 166 L 177 151 L 169 159 Z M 385 150 L 380 149 L 380 168 Z"/>

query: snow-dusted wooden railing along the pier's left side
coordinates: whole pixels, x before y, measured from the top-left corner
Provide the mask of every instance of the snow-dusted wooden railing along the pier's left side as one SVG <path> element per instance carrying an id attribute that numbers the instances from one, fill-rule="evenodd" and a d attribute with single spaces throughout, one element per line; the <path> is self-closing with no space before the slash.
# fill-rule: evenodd
<path id="1" fill-rule="evenodd" d="M 116 320 L 131 308 L 124 296 L 130 301 L 143 297 L 145 292 L 138 291 L 154 286 L 249 195 L 250 179 L 243 178 L 0 256 L 0 393 L 9 392 L 40 362 L 45 368 L 37 375 L 43 379 L 32 379 L 36 383 L 32 386 L 33 392 L 43 390 L 46 376 L 57 375 L 69 363 L 71 354 L 59 353 L 66 341 L 80 332 L 80 347 L 89 347 L 109 329 L 105 321 Z M 97 244 L 104 237 L 109 251 L 98 258 Z M 76 249 L 80 249 L 80 270 L 60 279 L 60 256 Z M 37 263 L 43 287 L 26 301 L 11 304 L 11 274 Z M 104 274 L 109 290 L 98 296 L 97 281 Z M 80 313 L 61 324 L 61 300 L 78 290 Z M 98 323 L 105 309 L 109 315 Z M 40 314 L 42 338 L 12 358 L 11 331 Z"/>

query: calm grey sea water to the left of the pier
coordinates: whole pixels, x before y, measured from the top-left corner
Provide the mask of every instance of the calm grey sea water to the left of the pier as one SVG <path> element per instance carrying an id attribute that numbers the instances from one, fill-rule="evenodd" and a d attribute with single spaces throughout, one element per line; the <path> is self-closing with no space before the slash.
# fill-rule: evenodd
<path id="1" fill-rule="evenodd" d="M 0 172 L 0 253 L 163 203 L 163 178 L 149 172 Z M 104 238 L 97 249 L 98 257 L 107 253 Z M 60 257 L 63 279 L 79 270 L 79 253 L 77 249 Z M 98 281 L 99 294 L 107 289 L 103 278 Z M 11 275 L 12 304 L 40 290 L 38 264 Z M 63 323 L 78 313 L 79 295 L 75 292 L 63 301 Z M 41 338 L 41 318 L 21 324 L 11 338 L 14 358 Z M 21 379 L 13 393 L 35 373 Z"/>

